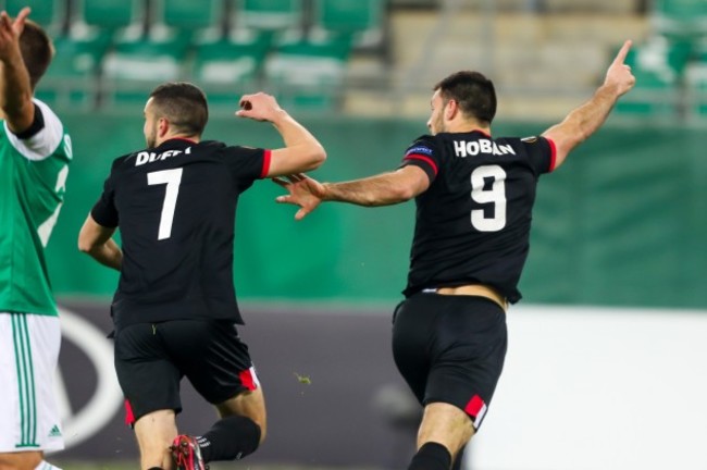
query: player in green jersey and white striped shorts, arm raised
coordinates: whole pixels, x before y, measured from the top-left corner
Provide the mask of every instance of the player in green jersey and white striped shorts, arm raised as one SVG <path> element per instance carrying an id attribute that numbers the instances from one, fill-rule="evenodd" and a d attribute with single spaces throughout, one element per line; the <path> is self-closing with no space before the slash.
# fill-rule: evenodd
<path id="1" fill-rule="evenodd" d="M 53 57 L 24 8 L 0 12 L 0 468 L 53 469 L 64 447 L 54 374 L 61 330 L 45 247 L 64 199 L 71 139 L 33 99 Z"/>

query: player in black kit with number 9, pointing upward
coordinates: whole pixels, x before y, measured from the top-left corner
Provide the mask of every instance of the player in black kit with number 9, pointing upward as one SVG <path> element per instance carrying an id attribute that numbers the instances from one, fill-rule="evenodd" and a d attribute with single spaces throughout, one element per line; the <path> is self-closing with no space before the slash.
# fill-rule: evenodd
<path id="1" fill-rule="evenodd" d="M 396 308 L 393 355 L 424 406 L 409 469 L 447 470 L 476 432 L 506 356 L 506 309 L 520 298 L 535 187 L 605 122 L 635 82 L 627 41 L 604 84 L 541 136 L 492 137 L 496 94 L 477 72 L 434 87 L 431 135 L 418 138 L 393 172 L 344 183 L 302 174 L 275 178 L 300 207 L 322 201 L 385 206 L 414 198 L 417 219 L 405 300 Z"/>

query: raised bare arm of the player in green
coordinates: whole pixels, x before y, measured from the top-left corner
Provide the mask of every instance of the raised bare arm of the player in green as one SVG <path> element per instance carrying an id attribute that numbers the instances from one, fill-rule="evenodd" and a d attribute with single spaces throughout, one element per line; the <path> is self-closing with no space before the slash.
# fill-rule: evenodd
<path id="1" fill-rule="evenodd" d="M 20 51 L 20 36 L 28 14 L 29 9 L 24 8 L 11 22 L 7 12 L 0 13 L 0 108 L 8 127 L 15 134 L 27 129 L 35 119 L 29 74 Z"/>

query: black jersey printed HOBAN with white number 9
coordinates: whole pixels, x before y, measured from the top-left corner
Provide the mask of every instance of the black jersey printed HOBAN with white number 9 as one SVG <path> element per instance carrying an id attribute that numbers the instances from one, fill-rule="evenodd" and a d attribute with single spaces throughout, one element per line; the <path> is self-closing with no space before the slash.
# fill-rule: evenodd
<path id="1" fill-rule="evenodd" d="M 430 187 L 415 198 L 404 294 L 485 284 L 518 301 L 535 186 L 555 166 L 553 141 L 492 138 L 479 131 L 441 133 L 418 138 L 402 164 L 420 166 L 430 176 Z"/>

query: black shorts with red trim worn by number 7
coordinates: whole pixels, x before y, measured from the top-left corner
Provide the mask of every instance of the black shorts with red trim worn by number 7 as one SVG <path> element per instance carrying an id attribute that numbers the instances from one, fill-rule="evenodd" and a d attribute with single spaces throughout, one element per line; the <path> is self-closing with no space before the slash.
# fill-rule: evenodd
<path id="1" fill-rule="evenodd" d="M 115 333 L 115 372 L 126 399 L 126 422 L 161 409 L 182 411 L 186 376 L 209 403 L 256 389 L 248 346 L 231 321 L 138 323 Z"/>

